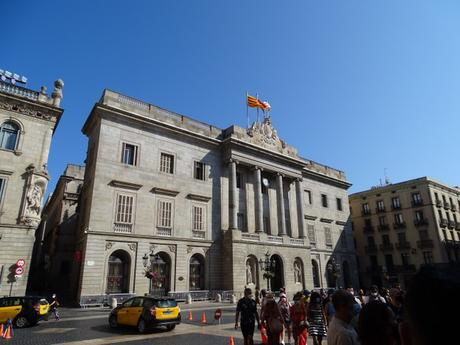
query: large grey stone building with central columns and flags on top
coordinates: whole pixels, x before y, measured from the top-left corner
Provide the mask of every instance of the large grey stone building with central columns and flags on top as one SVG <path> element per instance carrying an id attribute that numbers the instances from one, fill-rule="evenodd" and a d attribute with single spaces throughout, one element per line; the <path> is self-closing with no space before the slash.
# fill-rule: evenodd
<path id="1" fill-rule="evenodd" d="M 275 291 L 357 285 L 350 184 L 269 116 L 222 130 L 105 90 L 82 131 L 80 296 L 264 288 L 266 257 Z"/>

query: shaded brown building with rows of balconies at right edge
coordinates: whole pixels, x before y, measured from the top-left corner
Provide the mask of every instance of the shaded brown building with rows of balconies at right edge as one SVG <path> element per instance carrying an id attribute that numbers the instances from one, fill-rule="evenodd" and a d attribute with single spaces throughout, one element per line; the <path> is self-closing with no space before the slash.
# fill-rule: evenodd
<path id="1" fill-rule="evenodd" d="M 428 177 L 350 195 L 360 280 L 407 286 L 422 265 L 460 262 L 460 189 Z"/>

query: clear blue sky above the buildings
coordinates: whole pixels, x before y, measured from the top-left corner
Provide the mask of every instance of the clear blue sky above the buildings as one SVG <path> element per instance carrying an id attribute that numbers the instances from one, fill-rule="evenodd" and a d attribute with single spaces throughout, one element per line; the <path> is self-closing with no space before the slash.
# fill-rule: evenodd
<path id="1" fill-rule="evenodd" d="M 49 168 L 82 163 L 81 127 L 104 88 L 225 128 L 245 93 L 281 138 L 344 170 L 460 184 L 460 2 L 2 1 L 1 66 L 65 82 Z"/>

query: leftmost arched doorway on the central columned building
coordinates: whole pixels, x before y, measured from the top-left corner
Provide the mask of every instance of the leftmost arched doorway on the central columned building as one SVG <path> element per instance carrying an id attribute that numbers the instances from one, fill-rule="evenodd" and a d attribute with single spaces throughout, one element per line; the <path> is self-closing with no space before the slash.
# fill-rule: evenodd
<path id="1" fill-rule="evenodd" d="M 107 293 L 129 292 L 129 269 L 131 260 L 124 250 L 117 250 L 109 256 L 107 272 Z"/>

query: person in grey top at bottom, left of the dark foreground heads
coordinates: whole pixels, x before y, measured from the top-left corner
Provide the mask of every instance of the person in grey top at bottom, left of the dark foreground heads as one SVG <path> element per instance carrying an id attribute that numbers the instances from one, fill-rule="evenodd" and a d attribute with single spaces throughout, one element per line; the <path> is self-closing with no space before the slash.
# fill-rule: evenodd
<path id="1" fill-rule="evenodd" d="M 335 316 L 329 325 L 328 345 L 358 345 L 358 334 L 350 322 L 353 318 L 353 296 L 346 290 L 337 290 L 332 295 Z"/>

